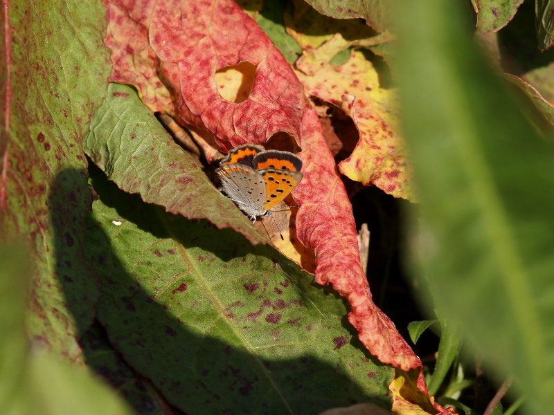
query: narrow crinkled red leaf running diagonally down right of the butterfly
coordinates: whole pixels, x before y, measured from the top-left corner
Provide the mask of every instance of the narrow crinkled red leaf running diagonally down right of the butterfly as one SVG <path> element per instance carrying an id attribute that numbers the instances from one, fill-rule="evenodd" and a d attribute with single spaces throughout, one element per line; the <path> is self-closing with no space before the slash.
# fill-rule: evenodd
<path id="1" fill-rule="evenodd" d="M 396 330 L 393 322 L 373 304 L 357 248 L 352 205 L 341 182 L 334 159 L 314 111 L 305 111 L 301 156 L 304 178 L 294 199 L 296 235 L 316 252 L 316 282 L 332 284 L 348 298 L 352 312 L 348 320 L 359 331 L 360 340 L 379 360 L 404 370 L 421 362 Z"/>

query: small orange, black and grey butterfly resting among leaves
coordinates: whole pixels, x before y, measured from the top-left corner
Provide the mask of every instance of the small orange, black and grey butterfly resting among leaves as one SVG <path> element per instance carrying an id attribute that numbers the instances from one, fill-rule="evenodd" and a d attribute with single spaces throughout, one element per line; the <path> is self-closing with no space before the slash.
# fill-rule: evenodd
<path id="1" fill-rule="evenodd" d="M 229 151 L 215 173 L 221 179 L 221 190 L 256 221 L 256 216 L 268 214 L 300 183 L 301 168 L 302 160 L 288 151 L 244 144 Z"/>

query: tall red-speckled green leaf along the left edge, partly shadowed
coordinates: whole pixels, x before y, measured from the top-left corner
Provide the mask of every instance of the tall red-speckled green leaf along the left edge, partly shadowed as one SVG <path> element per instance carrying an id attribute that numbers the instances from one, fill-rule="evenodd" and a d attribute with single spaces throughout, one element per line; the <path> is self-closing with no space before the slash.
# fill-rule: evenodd
<path id="1" fill-rule="evenodd" d="M 77 338 L 99 293 L 82 249 L 91 194 L 81 140 L 110 71 L 105 8 L 75 0 L 4 6 L 11 60 L 1 65 L 9 77 L 1 89 L 0 229 L 30 249 L 29 335 L 78 362 Z"/>

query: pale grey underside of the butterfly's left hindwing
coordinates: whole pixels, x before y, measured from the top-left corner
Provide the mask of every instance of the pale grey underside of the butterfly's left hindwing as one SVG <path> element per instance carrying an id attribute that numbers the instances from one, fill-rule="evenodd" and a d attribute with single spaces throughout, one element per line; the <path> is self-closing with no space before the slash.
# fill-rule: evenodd
<path id="1" fill-rule="evenodd" d="M 223 164 L 215 170 L 220 177 L 222 191 L 248 216 L 265 212 L 266 182 L 262 174 L 240 163 Z"/>

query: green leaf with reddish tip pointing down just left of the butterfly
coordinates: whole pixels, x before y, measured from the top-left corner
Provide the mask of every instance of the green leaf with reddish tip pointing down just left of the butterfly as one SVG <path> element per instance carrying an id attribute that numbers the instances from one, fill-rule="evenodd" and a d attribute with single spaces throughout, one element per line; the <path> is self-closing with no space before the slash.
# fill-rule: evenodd
<path id="1" fill-rule="evenodd" d="M 94 163 L 125 192 L 139 193 L 144 201 L 189 219 L 233 227 L 253 243 L 266 241 L 175 144 L 130 86 L 109 84 L 108 97 L 94 113 L 84 146 Z"/>

